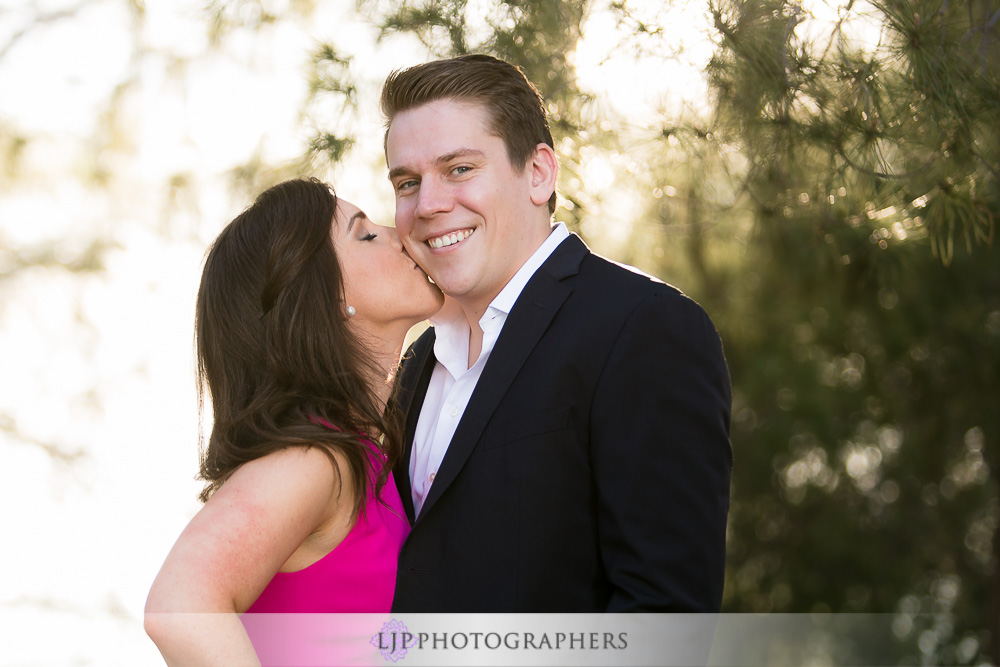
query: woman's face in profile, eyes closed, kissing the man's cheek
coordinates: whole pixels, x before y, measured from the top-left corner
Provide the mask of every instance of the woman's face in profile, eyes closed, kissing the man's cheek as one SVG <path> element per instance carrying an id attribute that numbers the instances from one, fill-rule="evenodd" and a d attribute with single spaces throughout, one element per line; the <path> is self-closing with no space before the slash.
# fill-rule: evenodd
<path id="1" fill-rule="evenodd" d="M 403 251 L 395 229 L 338 198 L 331 233 L 353 324 L 374 333 L 387 326 L 408 329 L 441 307 L 444 295 Z"/>

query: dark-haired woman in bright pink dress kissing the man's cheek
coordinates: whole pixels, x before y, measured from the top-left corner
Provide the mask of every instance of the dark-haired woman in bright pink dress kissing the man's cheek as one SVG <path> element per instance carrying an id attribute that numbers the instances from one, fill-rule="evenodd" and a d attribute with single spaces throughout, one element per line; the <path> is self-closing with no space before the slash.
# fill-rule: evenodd
<path id="1" fill-rule="evenodd" d="M 168 663 L 255 664 L 236 613 L 389 610 L 409 525 L 386 405 L 406 332 L 443 299 L 394 229 L 319 181 L 222 231 L 196 309 L 205 506 L 146 602 Z"/>

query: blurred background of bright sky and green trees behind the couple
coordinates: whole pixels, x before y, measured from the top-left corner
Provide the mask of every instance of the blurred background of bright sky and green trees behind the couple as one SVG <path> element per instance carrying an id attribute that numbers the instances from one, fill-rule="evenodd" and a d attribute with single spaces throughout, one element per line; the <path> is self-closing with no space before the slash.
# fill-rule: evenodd
<path id="1" fill-rule="evenodd" d="M 724 611 L 1000 662 L 998 44 L 996 0 L 0 0 L 0 664 L 159 663 L 208 244 L 296 175 L 391 224 L 381 81 L 469 51 L 544 95 L 557 219 L 720 330 Z"/>

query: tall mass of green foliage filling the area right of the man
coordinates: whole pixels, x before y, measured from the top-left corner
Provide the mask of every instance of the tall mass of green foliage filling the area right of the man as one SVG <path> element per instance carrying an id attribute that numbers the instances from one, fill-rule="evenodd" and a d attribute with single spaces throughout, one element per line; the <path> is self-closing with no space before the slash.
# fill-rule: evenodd
<path id="1" fill-rule="evenodd" d="M 725 606 L 944 613 L 900 638 L 966 663 L 997 650 L 995 10 L 874 9 L 877 44 L 848 38 L 849 7 L 811 39 L 797 3 L 712 8 L 713 132 L 755 221 L 720 321 Z"/>

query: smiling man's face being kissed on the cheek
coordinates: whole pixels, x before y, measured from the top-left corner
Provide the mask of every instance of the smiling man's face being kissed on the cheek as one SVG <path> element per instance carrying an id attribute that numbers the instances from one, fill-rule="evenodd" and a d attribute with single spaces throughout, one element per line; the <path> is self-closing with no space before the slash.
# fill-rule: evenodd
<path id="1" fill-rule="evenodd" d="M 485 109 L 455 100 L 397 114 L 386 157 L 407 252 L 442 291 L 484 312 L 548 232 L 530 161 L 512 167 Z"/>

